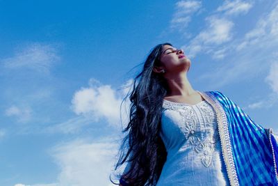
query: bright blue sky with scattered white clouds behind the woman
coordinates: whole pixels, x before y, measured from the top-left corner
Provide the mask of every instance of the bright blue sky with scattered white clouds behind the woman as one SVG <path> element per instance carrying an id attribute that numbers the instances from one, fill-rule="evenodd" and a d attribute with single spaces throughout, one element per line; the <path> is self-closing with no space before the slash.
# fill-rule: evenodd
<path id="1" fill-rule="evenodd" d="M 0 185 L 111 185 L 124 87 L 161 42 L 278 133 L 278 1 L 2 0 Z"/>

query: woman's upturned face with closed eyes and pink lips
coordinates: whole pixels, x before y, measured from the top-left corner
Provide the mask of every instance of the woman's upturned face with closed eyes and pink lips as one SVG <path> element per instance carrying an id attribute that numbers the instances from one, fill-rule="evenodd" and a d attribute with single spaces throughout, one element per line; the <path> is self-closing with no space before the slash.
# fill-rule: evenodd
<path id="1" fill-rule="evenodd" d="M 191 61 L 183 54 L 182 49 L 177 49 L 171 45 L 163 45 L 160 61 L 163 63 L 165 72 L 188 71 Z"/>

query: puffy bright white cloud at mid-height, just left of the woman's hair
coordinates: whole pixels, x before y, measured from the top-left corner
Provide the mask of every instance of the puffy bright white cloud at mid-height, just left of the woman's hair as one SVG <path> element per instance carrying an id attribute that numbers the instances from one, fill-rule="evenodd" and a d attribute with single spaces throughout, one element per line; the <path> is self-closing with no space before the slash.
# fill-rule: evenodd
<path id="1" fill-rule="evenodd" d="M 90 79 L 87 88 L 81 88 L 72 98 L 74 116 L 67 121 L 51 125 L 43 132 L 76 134 L 82 132 L 83 127 L 90 127 L 101 118 L 108 121 L 114 129 L 127 125 L 129 121 L 130 100 L 122 100 L 131 91 L 133 79 L 126 81 L 120 88 L 113 89 L 110 85 L 103 85 L 97 79 Z M 121 107 L 122 102 L 122 108 Z"/>

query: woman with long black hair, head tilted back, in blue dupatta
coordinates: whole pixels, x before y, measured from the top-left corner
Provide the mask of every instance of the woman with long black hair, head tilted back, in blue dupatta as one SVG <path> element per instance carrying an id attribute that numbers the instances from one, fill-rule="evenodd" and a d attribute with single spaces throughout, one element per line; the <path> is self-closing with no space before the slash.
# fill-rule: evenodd
<path id="1" fill-rule="evenodd" d="M 278 137 L 223 93 L 194 90 L 190 65 L 169 42 L 147 56 L 129 96 L 120 185 L 278 185 Z"/>

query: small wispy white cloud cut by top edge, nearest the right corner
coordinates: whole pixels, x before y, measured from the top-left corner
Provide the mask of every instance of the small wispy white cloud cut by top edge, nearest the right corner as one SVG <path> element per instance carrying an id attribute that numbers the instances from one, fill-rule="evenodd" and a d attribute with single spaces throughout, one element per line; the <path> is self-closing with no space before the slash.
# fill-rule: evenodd
<path id="1" fill-rule="evenodd" d="M 224 1 L 223 5 L 218 7 L 217 11 L 224 12 L 227 15 L 239 15 L 240 13 L 246 14 L 252 6 L 252 3 L 240 0 Z"/>

